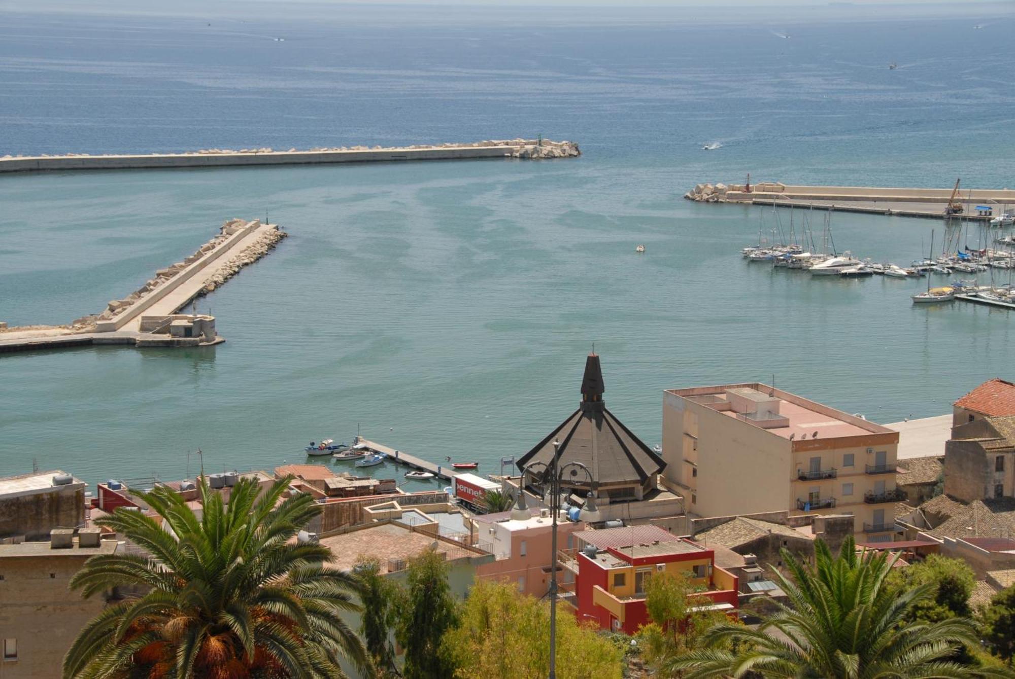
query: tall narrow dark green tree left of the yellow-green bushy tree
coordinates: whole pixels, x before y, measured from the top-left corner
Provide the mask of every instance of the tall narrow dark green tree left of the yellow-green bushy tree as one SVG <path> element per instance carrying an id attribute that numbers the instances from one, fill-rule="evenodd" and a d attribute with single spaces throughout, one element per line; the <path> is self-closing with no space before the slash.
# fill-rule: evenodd
<path id="1" fill-rule="evenodd" d="M 406 679 L 447 679 L 454 661 L 441 640 L 458 621 L 448 584 L 448 562 L 434 549 L 409 560 L 406 588 L 398 603 L 398 643 L 405 649 Z"/>

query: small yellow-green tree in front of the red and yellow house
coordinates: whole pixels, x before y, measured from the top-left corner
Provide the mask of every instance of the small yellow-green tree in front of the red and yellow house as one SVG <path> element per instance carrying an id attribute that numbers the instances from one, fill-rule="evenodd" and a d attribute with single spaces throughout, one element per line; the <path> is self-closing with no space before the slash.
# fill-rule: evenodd
<path id="1" fill-rule="evenodd" d="M 730 619 L 721 611 L 702 608 L 712 600 L 700 594 L 687 578 L 678 575 L 654 576 L 646 588 L 649 624 L 638 630 L 645 660 L 661 668 L 674 657 L 698 648 L 702 635 Z"/>

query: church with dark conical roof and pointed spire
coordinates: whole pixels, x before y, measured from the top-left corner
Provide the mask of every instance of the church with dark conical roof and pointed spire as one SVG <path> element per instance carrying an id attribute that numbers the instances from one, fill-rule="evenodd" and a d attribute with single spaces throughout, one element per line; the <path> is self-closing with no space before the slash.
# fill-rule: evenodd
<path id="1" fill-rule="evenodd" d="M 553 466 L 554 442 L 558 442 L 558 468 L 578 462 L 592 475 L 590 482 L 586 474 L 564 474 L 562 488 L 583 497 L 592 491 L 608 502 L 641 500 L 656 488 L 657 475 L 666 462 L 606 408 L 606 386 L 597 354 L 586 359 L 581 391 L 578 410 L 518 460 L 519 469 L 528 476 L 526 482 L 538 483 L 537 473 L 526 472 L 526 467 L 542 463 L 536 465 L 542 473 L 543 465 Z"/>

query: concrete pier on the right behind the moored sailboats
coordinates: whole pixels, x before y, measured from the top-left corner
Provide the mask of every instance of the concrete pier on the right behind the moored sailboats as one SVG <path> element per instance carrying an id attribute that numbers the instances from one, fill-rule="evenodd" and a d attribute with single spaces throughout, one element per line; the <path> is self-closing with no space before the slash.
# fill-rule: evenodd
<path id="1" fill-rule="evenodd" d="M 684 198 L 699 203 L 746 203 L 798 209 L 816 208 L 841 212 L 862 212 L 902 217 L 945 218 L 945 207 L 952 188 L 909 188 L 885 186 L 809 186 L 764 181 L 752 184 L 697 184 Z M 952 219 L 990 222 L 1009 205 L 1015 206 L 1015 191 L 1010 188 L 959 190 L 955 197 L 964 212 Z M 991 208 L 979 214 L 977 206 Z"/>

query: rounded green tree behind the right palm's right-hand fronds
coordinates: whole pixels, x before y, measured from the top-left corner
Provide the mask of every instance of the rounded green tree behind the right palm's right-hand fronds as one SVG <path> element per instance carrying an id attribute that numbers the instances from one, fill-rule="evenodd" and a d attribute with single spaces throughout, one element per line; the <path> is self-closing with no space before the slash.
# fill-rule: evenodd
<path id="1" fill-rule="evenodd" d="M 908 620 L 938 622 L 972 614 L 969 595 L 976 586 L 976 576 L 961 559 L 931 554 L 924 561 L 893 569 L 888 584 L 901 592 L 931 586 L 932 596 L 913 603 L 906 615 Z"/>

